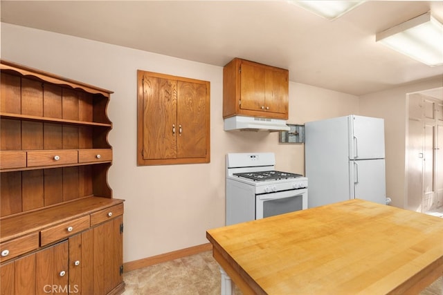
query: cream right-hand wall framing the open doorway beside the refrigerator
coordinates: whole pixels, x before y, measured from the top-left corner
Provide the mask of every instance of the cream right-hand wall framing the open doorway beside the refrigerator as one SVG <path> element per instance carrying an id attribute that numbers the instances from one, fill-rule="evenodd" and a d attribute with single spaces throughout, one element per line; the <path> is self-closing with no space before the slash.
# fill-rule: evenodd
<path id="1" fill-rule="evenodd" d="M 360 97 L 360 113 L 385 120 L 386 146 L 386 196 L 392 198 L 392 206 L 408 208 L 407 165 L 405 162 L 408 128 L 408 93 L 425 91 L 443 86 L 443 77 L 392 88 Z"/>

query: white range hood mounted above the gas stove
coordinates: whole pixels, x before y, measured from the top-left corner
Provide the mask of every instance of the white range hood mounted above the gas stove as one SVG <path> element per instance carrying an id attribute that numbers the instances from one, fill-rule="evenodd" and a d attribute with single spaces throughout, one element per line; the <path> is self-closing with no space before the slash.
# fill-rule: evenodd
<path id="1" fill-rule="evenodd" d="M 289 131 L 285 120 L 262 117 L 233 116 L 224 120 L 225 131 Z"/>

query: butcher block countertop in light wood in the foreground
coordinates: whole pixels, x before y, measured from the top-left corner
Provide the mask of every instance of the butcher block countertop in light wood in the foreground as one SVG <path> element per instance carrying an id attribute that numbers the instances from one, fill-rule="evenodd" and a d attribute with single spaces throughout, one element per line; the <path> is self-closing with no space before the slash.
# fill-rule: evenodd
<path id="1" fill-rule="evenodd" d="M 206 237 L 244 294 L 417 294 L 443 274 L 443 218 L 364 200 L 210 229 Z"/>

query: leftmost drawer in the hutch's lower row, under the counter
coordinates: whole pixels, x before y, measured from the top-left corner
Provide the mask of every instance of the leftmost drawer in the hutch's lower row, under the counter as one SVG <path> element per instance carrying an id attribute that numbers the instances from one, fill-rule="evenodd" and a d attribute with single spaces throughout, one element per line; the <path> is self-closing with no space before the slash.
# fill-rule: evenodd
<path id="1" fill-rule="evenodd" d="M 0 262 L 15 258 L 39 247 L 39 233 L 29 234 L 0 244 Z"/>

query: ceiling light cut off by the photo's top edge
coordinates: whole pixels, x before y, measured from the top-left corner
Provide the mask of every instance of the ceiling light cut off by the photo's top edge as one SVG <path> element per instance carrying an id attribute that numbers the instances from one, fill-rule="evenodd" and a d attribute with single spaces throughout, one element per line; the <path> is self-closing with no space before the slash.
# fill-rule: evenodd
<path id="1" fill-rule="evenodd" d="M 289 1 L 296 4 L 301 8 L 305 8 L 310 12 L 314 12 L 320 17 L 333 20 L 337 17 L 341 17 L 346 12 L 352 10 L 356 6 L 359 6 L 365 1 Z"/>

